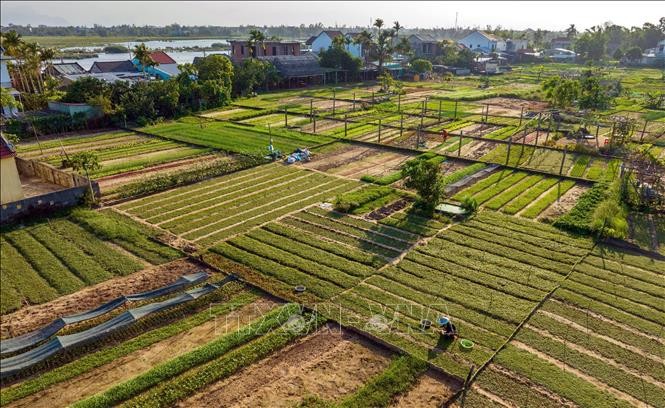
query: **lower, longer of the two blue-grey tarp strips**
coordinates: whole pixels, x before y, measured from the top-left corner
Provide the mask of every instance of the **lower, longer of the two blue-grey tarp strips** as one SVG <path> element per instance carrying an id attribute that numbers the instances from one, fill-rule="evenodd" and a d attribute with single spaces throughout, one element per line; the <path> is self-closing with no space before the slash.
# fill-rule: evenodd
<path id="1" fill-rule="evenodd" d="M 129 309 L 112 319 L 109 319 L 82 332 L 68 334 L 65 336 L 56 336 L 39 347 L 28 350 L 22 354 L 0 360 L 0 378 L 6 378 L 8 376 L 14 375 L 21 370 L 46 360 L 61 350 L 81 346 L 94 340 L 102 339 L 108 336 L 111 332 L 123 327 L 127 327 L 152 313 L 166 310 L 182 303 L 198 299 L 199 297 L 207 295 L 208 293 L 219 289 L 224 284 L 235 279 L 235 276 L 230 275 L 215 284 L 205 284 L 200 288 L 188 290 L 181 295 L 164 300 L 162 302 L 150 303 L 134 309 Z"/>

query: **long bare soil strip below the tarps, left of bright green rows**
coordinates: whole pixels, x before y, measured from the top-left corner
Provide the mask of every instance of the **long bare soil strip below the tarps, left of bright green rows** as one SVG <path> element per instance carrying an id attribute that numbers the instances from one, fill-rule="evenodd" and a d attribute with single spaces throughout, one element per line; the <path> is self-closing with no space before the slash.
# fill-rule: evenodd
<path id="1" fill-rule="evenodd" d="M 227 315 L 121 357 L 64 383 L 56 384 L 10 407 L 52 408 L 68 406 L 134 378 L 151 368 L 183 355 L 211 340 L 232 333 L 277 306 L 273 300 L 260 299 Z"/>

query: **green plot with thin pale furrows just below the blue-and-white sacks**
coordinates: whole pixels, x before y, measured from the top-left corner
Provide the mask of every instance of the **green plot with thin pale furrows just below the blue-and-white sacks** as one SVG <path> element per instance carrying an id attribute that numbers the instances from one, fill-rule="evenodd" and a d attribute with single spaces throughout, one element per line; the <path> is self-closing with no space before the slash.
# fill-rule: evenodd
<path id="1" fill-rule="evenodd" d="M 358 186 L 353 181 L 275 165 L 174 189 L 120 208 L 209 246 Z"/>

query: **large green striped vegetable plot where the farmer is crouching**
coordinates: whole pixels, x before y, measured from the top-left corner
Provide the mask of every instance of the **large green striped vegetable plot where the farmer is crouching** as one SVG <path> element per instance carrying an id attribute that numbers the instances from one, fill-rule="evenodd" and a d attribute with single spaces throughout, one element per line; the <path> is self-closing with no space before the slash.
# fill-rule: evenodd
<path id="1" fill-rule="evenodd" d="M 491 225 L 486 226 L 485 219 Z M 577 239 L 532 224 L 481 212 L 474 221 L 439 233 L 396 266 L 381 269 L 329 304 L 342 307 L 348 324 L 464 378 L 470 365 L 487 361 L 589 251 L 590 245 L 580 248 Z M 457 344 L 420 329 L 421 319 L 435 322 L 439 315 L 452 317 L 460 336 L 476 344 L 473 351 L 463 352 Z M 383 330 L 368 329 L 381 322 Z"/>

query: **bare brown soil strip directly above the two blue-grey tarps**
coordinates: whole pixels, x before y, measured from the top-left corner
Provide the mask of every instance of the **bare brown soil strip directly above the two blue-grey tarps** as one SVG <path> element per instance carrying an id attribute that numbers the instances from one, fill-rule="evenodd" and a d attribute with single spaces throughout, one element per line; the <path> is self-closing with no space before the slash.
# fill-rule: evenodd
<path id="1" fill-rule="evenodd" d="M 3 338 L 18 336 L 51 323 L 58 317 L 84 312 L 120 295 L 155 289 L 172 283 L 182 275 L 200 270 L 212 272 L 200 264 L 180 259 L 109 279 L 48 303 L 24 307 L 4 315 L 0 317 L 0 333 Z"/>

